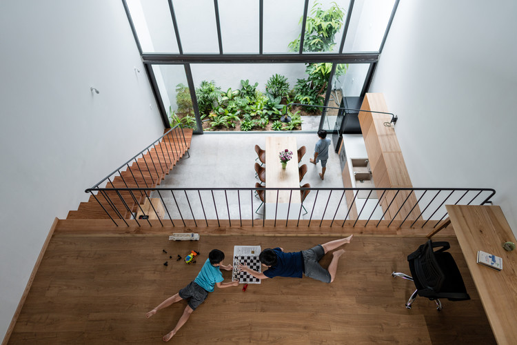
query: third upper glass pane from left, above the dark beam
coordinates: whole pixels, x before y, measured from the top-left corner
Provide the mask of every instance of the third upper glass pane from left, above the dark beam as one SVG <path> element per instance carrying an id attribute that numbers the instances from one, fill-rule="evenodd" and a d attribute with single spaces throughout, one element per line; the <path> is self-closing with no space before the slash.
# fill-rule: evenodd
<path id="1" fill-rule="evenodd" d="M 256 0 L 219 0 L 223 52 L 259 52 L 259 3 Z"/>

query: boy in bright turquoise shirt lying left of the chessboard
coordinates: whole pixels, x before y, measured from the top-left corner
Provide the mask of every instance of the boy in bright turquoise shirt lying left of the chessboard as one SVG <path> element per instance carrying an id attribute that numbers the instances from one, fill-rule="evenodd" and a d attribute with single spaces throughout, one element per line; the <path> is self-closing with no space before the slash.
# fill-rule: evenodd
<path id="1" fill-rule="evenodd" d="M 201 271 L 197 275 L 196 279 L 185 286 L 185 288 L 179 290 L 179 293 L 176 293 L 176 295 L 165 299 L 165 301 L 161 302 L 159 306 L 145 314 L 145 317 L 147 318 L 152 317 L 152 315 L 156 314 L 156 312 L 160 309 L 167 308 L 171 304 L 181 301 L 181 299 L 188 299 L 188 305 L 185 307 L 185 311 L 183 311 L 183 315 L 181 315 L 179 318 L 179 321 L 174 329 L 163 336 L 164 342 L 168 342 L 176 334 L 179 328 L 181 328 L 181 326 L 187 322 L 190 314 L 196 310 L 199 304 L 203 303 L 208 293 L 214 291 L 214 285 L 217 285 L 218 288 L 239 286 L 239 281 L 221 283 L 223 282 L 224 278 L 220 268 L 223 268 L 224 270 L 233 269 L 232 265 L 223 265 L 222 262 L 224 258 L 225 254 L 221 252 L 221 250 L 212 250 L 210 254 L 208 254 L 208 259 L 203 265 L 203 268 L 201 268 Z"/>

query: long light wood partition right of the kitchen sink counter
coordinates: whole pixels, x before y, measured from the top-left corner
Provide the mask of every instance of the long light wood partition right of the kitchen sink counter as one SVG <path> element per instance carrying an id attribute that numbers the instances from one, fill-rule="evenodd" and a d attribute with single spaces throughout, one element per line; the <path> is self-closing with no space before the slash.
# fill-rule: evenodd
<path id="1" fill-rule="evenodd" d="M 389 112 L 382 93 L 367 93 L 361 110 Z M 359 112 L 359 123 L 363 131 L 374 183 L 377 188 L 412 188 L 413 185 L 411 179 L 409 179 L 401 146 L 398 145 L 395 129 L 385 126 L 385 123 L 389 124 L 391 119 L 392 116 L 387 114 Z M 407 199 L 408 194 L 409 192 L 404 190 L 401 190 L 398 194 L 396 194 L 396 191 L 389 191 L 384 194 L 380 203 L 383 211 L 394 200 L 384 216 L 385 219 L 402 220 L 411 212 L 407 219 L 414 220 L 420 215 L 418 206 L 412 210 L 416 204 L 416 196 L 412 193 Z M 378 191 L 379 198 L 381 195 L 383 195 L 382 190 Z M 404 204 L 406 199 L 407 201 Z M 402 209 L 397 214 L 401 206 Z"/>

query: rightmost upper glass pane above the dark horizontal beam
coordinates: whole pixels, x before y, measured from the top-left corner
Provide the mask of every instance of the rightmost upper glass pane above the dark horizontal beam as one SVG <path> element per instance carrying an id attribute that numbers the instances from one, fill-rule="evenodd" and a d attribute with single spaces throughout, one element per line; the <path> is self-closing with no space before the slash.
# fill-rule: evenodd
<path id="1" fill-rule="evenodd" d="M 378 52 L 395 0 L 356 0 L 343 52 Z"/>

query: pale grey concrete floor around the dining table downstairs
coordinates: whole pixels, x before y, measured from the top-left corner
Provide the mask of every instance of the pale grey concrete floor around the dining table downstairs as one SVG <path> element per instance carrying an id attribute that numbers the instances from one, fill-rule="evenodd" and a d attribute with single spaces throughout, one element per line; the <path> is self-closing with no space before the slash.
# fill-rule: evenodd
<path id="1" fill-rule="evenodd" d="M 314 157 L 314 144 L 318 140 L 316 132 L 207 132 L 203 135 L 194 135 L 190 146 L 190 158 L 183 157 L 172 172 L 162 181 L 161 188 L 254 188 L 259 179 L 255 177 L 254 164 L 256 152 L 254 146 L 258 144 L 265 148 L 265 137 L 276 135 L 290 135 L 296 138 L 299 147 L 305 146 L 307 153 L 299 165 L 307 164 L 307 174 L 301 184 L 309 183 L 312 188 L 343 188 L 341 165 L 338 155 L 329 150 L 325 180 L 318 175 L 321 164 L 314 166 L 309 159 Z M 296 161 L 295 161 L 296 162 Z M 290 162 L 289 164 L 292 164 Z M 294 163 L 296 164 L 296 163 Z M 186 195 L 186 197 L 185 197 Z M 159 197 L 154 192 L 152 197 Z M 228 211 L 232 219 L 260 219 L 263 217 L 263 207 L 259 213 L 261 201 L 252 197 L 250 191 L 175 191 L 174 194 L 161 193 L 172 219 L 220 219 L 228 218 Z M 329 191 L 310 193 L 305 199 L 304 206 L 308 213 L 302 219 L 332 219 L 336 206 L 340 205 L 340 213 L 347 212 L 345 199 L 341 200 L 341 193 L 330 194 Z M 226 203 L 226 199 L 228 202 Z M 325 206 L 329 200 L 329 206 Z M 215 201 L 215 202 L 214 202 Z M 340 204 L 341 201 L 341 204 Z M 216 205 L 214 207 L 214 204 Z M 343 207 L 343 205 L 345 205 Z M 239 208 L 240 206 L 240 208 Z M 313 210 L 314 208 L 314 210 Z M 181 213 L 181 215 L 180 215 Z M 304 212 L 302 212 L 303 215 Z M 341 216 L 341 219 L 343 215 Z M 290 216 L 291 218 L 291 216 Z"/>

